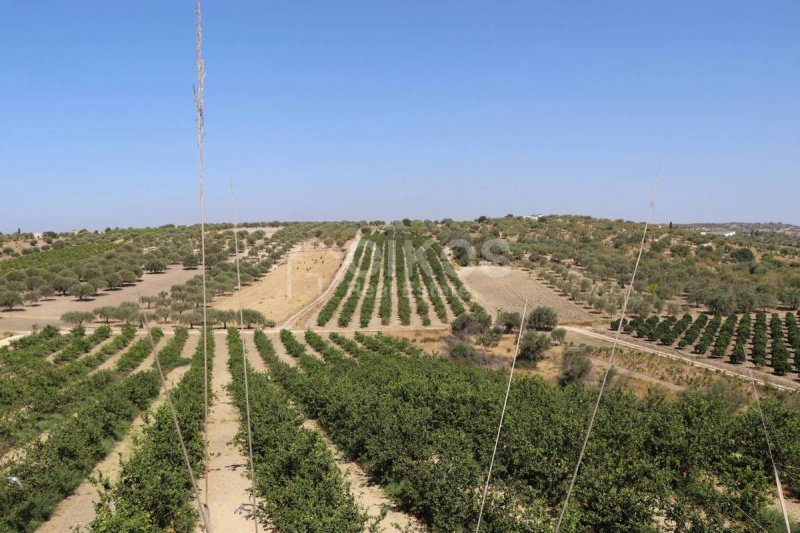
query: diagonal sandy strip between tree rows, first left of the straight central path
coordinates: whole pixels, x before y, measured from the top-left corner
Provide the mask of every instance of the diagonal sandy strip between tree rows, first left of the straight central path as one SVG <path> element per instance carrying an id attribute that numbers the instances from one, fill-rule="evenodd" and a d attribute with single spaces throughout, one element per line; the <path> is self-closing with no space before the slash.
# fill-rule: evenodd
<path id="1" fill-rule="evenodd" d="M 167 375 L 167 386 L 170 389 L 174 387 L 188 370 L 188 366 L 183 366 L 170 372 Z M 147 412 L 150 414 L 155 413 L 164 403 L 164 399 L 164 389 L 162 388 Z M 106 458 L 92 470 L 92 477 L 102 474 L 111 483 L 119 479 L 121 463 L 127 461 L 133 453 L 135 440 L 142 434 L 146 426 L 145 419 L 150 420 L 151 418 L 139 415 L 133 420 L 133 424 L 125 438 L 119 441 Z M 100 493 L 97 487 L 86 479 L 70 496 L 61 500 L 50 520 L 45 522 L 37 531 L 41 533 L 64 533 L 72 531 L 75 526 L 84 527 L 94 519 L 94 504 L 99 500 Z"/>

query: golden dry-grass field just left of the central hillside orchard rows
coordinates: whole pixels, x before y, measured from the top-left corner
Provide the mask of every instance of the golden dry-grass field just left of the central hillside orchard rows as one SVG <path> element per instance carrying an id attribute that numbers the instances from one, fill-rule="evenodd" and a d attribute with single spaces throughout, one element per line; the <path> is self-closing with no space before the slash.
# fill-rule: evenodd
<path id="1" fill-rule="evenodd" d="M 258 309 L 267 318 L 282 324 L 324 293 L 342 264 L 343 256 L 336 249 L 292 251 L 285 263 L 242 288 L 242 306 Z M 215 299 L 214 307 L 238 310 L 239 301 L 239 295 L 234 293 Z"/>

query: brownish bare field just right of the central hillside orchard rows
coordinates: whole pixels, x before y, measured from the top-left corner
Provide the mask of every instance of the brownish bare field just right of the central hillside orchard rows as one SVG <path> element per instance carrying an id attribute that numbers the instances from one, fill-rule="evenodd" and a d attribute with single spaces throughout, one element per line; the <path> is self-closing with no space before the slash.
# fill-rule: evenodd
<path id="1" fill-rule="evenodd" d="M 490 314 L 498 309 L 521 312 L 527 299 L 528 307 L 555 309 L 561 323 L 585 324 L 598 318 L 547 287 L 533 272 L 500 266 L 464 267 L 457 272 Z"/>

